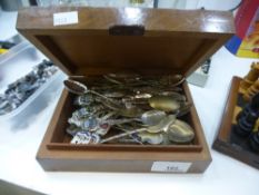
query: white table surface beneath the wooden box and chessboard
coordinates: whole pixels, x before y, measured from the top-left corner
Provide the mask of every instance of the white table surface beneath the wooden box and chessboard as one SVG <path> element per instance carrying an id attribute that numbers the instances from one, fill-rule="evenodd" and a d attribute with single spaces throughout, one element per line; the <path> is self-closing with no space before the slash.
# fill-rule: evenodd
<path id="1" fill-rule="evenodd" d="M 0 13 L 0 29 L 2 32 L 4 27 L 4 38 L 11 37 L 14 32 L 16 16 L 14 12 Z M 0 36 L 2 38 L 2 35 Z M 230 80 L 232 76 L 245 76 L 252 61 L 237 58 L 226 48 L 221 48 L 212 58 L 206 87 L 189 85 L 210 148 L 221 120 Z M 13 121 L 9 120 L 0 123 L 0 179 L 57 195 L 258 194 L 259 170 L 213 149 L 210 149 L 212 163 L 203 174 L 44 172 L 36 160 L 36 154 L 58 99 L 59 96 L 30 118 L 31 123 L 24 128 L 13 128 Z"/>

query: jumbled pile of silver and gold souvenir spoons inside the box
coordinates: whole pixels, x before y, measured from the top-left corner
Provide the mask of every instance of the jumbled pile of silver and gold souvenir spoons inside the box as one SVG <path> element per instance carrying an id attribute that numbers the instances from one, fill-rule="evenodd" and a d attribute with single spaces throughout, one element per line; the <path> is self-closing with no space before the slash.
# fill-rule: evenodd
<path id="1" fill-rule="evenodd" d="M 183 81 L 180 75 L 136 74 L 104 75 L 91 87 L 64 80 L 77 95 L 67 128 L 71 144 L 191 144 L 193 129 L 180 119 L 192 106 L 178 87 Z"/>

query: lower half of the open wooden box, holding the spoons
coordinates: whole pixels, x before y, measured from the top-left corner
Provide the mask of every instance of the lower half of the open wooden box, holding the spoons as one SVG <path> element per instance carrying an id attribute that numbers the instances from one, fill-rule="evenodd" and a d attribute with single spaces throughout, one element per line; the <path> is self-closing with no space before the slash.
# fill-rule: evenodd
<path id="1" fill-rule="evenodd" d="M 188 101 L 192 103 L 187 84 L 182 87 Z M 185 117 L 196 133 L 190 145 L 71 145 L 64 129 L 74 109 L 72 99 L 64 89 L 39 148 L 37 159 L 46 170 L 202 173 L 211 162 L 195 106 Z M 153 169 L 155 162 L 190 167 L 185 170 L 179 167 Z"/>

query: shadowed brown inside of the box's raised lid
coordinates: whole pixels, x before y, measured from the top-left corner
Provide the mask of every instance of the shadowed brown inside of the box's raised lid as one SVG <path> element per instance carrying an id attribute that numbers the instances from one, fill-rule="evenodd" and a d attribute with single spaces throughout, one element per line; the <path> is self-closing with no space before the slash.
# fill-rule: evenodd
<path id="1" fill-rule="evenodd" d="M 141 75 L 186 75 L 217 39 L 197 36 L 82 36 L 36 38 L 74 74 L 102 75 L 131 70 Z M 63 41 L 66 40 L 66 41 Z"/>

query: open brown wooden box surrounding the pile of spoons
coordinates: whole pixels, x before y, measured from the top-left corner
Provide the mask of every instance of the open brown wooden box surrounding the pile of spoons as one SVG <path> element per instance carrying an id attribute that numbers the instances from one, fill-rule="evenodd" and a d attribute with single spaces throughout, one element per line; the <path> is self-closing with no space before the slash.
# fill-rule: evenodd
<path id="1" fill-rule="evenodd" d="M 53 13 L 69 11 L 78 23 L 53 26 Z M 235 32 L 223 11 L 72 7 L 20 10 L 17 29 L 66 74 L 86 77 L 127 70 L 187 77 Z M 46 170 L 202 173 L 211 162 L 195 106 L 185 117 L 196 134 L 190 145 L 70 145 L 72 98 L 64 89 L 37 154 Z"/>

